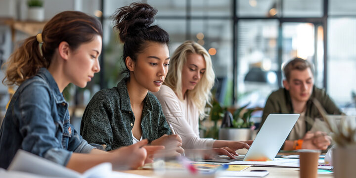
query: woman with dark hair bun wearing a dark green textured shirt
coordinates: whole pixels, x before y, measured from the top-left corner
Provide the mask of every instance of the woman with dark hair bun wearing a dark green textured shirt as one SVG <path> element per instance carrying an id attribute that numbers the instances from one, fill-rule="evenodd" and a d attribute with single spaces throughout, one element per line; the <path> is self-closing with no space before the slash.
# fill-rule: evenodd
<path id="1" fill-rule="evenodd" d="M 172 134 L 158 99 L 169 67 L 169 35 L 154 22 L 157 10 L 145 3 L 121 7 L 115 29 L 124 43 L 127 78 L 117 87 L 95 93 L 85 109 L 81 134 L 89 143 L 110 151 L 142 139 L 165 145 L 170 154 L 184 150 L 181 138 Z"/>

